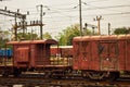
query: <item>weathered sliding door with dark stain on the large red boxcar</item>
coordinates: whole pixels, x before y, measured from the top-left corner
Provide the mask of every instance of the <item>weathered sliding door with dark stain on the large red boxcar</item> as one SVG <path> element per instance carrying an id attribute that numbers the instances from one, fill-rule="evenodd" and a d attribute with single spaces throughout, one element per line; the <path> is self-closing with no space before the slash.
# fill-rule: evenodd
<path id="1" fill-rule="evenodd" d="M 100 41 L 99 57 L 102 71 L 118 70 L 118 44 L 117 41 Z"/>

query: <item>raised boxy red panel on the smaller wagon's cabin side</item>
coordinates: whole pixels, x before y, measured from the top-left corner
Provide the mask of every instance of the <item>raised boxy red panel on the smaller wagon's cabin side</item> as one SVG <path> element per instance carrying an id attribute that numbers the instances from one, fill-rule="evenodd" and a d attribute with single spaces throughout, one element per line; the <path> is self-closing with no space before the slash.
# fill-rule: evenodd
<path id="1" fill-rule="evenodd" d="M 14 51 L 14 66 L 27 67 L 29 65 L 29 47 L 27 45 L 16 45 Z"/>

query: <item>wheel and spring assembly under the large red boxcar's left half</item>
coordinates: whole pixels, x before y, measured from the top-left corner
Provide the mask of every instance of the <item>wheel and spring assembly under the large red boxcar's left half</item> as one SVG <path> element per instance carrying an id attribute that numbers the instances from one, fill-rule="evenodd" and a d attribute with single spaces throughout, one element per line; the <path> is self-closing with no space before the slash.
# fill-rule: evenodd
<path id="1" fill-rule="evenodd" d="M 103 79 L 106 76 L 104 72 L 87 72 L 90 79 Z"/>

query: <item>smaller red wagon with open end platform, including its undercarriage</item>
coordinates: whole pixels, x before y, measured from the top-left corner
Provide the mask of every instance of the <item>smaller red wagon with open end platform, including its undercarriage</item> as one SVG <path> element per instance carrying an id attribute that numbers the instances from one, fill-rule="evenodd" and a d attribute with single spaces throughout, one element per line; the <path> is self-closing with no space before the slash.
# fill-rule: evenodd
<path id="1" fill-rule="evenodd" d="M 55 64 L 54 61 L 54 63 L 51 63 L 50 47 L 57 45 L 57 41 L 53 39 L 10 41 L 6 45 L 13 46 L 13 65 L 9 67 L 10 70 L 1 71 L 5 75 L 9 75 L 9 71 L 15 76 L 20 75 L 22 72 L 38 71 L 44 73 L 47 76 L 53 73 L 54 76 L 57 74 L 57 70 L 70 67 L 68 64 L 61 65 L 58 62 Z"/>

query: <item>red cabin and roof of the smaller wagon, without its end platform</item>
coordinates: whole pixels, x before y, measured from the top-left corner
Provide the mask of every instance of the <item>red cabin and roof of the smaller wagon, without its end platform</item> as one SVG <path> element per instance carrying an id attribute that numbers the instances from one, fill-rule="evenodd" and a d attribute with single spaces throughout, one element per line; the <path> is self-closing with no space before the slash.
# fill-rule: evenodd
<path id="1" fill-rule="evenodd" d="M 23 71 L 39 70 L 50 65 L 50 46 L 57 45 L 57 41 L 53 39 L 23 40 L 10 41 L 6 45 L 13 46 L 12 72 L 18 75 Z"/>

